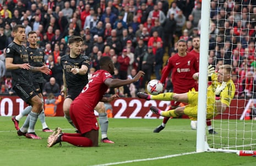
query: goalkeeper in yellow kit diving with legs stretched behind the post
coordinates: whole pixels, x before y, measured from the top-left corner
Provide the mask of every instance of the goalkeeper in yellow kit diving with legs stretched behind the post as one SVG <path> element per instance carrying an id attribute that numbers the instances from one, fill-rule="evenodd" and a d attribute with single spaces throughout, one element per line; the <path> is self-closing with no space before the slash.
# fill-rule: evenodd
<path id="1" fill-rule="evenodd" d="M 211 68 L 208 74 L 212 73 Z M 235 85 L 231 80 L 231 65 L 222 65 L 219 71 L 211 75 L 213 81 L 207 88 L 207 115 L 206 118 L 211 119 L 219 113 L 223 113 L 230 105 L 232 98 L 235 95 Z M 198 73 L 193 75 L 194 79 L 198 79 Z M 178 107 L 176 109 L 162 111 L 155 106 L 151 106 L 150 110 L 162 117 L 178 117 L 182 114 L 197 118 L 198 109 L 198 92 L 189 91 L 187 93 L 161 93 L 159 95 L 148 95 L 146 93 L 137 93 L 139 98 L 144 99 L 159 99 L 162 101 L 179 101 L 189 103 L 187 106 Z"/>

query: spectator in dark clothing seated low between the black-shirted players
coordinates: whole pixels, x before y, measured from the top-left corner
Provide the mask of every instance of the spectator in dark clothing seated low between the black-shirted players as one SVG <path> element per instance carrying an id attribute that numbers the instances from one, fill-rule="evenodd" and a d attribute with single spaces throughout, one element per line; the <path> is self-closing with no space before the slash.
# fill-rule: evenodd
<path id="1" fill-rule="evenodd" d="M 59 85 L 56 83 L 56 79 L 54 77 L 50 78 L 49 82 L 45 83 L 43 86 L 43 96 L 49 95 L 49 93 L 53 93 L 54 95 L 59 94 Z"/>

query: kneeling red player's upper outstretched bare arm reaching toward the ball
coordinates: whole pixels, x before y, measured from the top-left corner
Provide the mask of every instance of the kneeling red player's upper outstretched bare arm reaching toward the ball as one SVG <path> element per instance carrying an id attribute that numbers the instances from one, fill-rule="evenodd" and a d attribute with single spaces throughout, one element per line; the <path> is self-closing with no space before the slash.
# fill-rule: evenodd
<path id="1" fill-rule="evenodd" d="M 139 71 L 133 79 L 129 79 L 129 80 L 120 80 L 120 79 L 112 79 L 112 78 L 108 78 L 105 80 L 105 84 L 108 87 L 120 87 L 120 86 L 124 86 L 124 85 L 128 85 L 131 84 L 133 82 L 138 81 L 141 76 L 144 76 L 144 71 Z"/>

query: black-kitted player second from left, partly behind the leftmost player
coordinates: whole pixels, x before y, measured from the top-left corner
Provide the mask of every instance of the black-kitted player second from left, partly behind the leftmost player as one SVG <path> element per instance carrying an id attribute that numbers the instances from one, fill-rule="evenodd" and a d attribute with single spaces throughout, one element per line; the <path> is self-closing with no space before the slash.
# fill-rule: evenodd
<path id="1" fill-rule="evenodd" d="M 45 53 L 41 48 L 37 48 L 37 34 L 35 31 L 30 31 L 28 33 L 28 42 L 29 46 L 26 47 L 26 51 L 29 54 L 29 64 L 32 67 L 42 67 L 45 64 Z M 35 87 L 36 93 L 41 98 L 43 103 L 43 96 L 42 96 L 42 87 L 43 87 L 43 75 L 41 72 L 30 72 L 33 85 Z M 19 113 L 17 116 L 13 116 L 12 120 L 14 126 L 17 130 L 19 130 L 19 120 L 28 115 L 32 109 L 32 106 L 26 107 L 23 111 Z M 39 119 L 42 123 L 42 131 L 43 132 L 53 132 L 51 129 L 48 128 L 45 122 L 45 112 L 42 105 L 42 111 L 39 114 Z"/>

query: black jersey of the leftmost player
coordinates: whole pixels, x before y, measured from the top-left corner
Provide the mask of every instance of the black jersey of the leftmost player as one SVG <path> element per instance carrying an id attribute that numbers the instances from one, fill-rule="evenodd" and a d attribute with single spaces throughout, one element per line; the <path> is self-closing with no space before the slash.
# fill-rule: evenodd
<path id="1" fill-rule="evenodd" d="M 11 42 L 6 48 L 6 58 L 13 58 L 13 64 L 29 63 L 29 54 L 26 51 L 25 46 L 18 45 L 15 42 Z M 12 84 L 15 86 L 19 82 L 31 83 L 30 71 L 26 69 L 14 69 L 12 73 Z"/>

